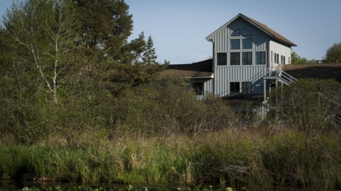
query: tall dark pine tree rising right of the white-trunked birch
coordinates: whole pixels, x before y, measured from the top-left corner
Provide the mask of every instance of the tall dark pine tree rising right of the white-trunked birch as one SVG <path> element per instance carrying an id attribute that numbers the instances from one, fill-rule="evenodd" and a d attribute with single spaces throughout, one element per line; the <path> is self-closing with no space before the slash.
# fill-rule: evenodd
<path id="1" fill-rule="evenodd" d="M 124 0 L 74 0 L 83 21 L 83 45 L 91 51 L 124 64 L 133 64 L 145 51 L 146 42 L 141 33 L 128 42 L 132 34 L 133 19 Z"/>

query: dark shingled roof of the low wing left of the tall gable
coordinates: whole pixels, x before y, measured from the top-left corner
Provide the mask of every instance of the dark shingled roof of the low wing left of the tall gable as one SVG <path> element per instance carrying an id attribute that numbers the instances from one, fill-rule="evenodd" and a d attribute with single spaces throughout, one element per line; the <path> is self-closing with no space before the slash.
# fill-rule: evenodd
<path id="1" fill-rule="evenodd" d="M 162 72 L 162 75 L 175 75 L 180 77 L 211 76 L 213 74 L 212 62 L 212 59 L 208 59 L 192 64 L 172 64 Z"/>

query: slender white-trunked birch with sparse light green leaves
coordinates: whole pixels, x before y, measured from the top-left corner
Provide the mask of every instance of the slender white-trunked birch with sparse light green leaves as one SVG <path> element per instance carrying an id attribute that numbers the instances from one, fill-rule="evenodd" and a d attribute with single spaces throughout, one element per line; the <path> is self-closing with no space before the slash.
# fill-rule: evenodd
<path id="1" fill-rule="evenodd" d="M 78 23 L 76 8 L 68 0 L 20 1 L 3 17 L 13 66 L 24 66 L 34 87 L 50 94 L 55 104 L 58 89 L 68 80 Z"/>

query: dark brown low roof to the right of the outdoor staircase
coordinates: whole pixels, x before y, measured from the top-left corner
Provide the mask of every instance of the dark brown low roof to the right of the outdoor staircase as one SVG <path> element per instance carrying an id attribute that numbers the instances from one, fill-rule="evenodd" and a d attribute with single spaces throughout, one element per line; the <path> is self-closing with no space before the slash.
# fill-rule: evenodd
<path id="1" fill-rule="evenodd" d="M 295 78 L 333 78 L 341 83 L 341 63 L 288 64 L 283 70 Z"/>

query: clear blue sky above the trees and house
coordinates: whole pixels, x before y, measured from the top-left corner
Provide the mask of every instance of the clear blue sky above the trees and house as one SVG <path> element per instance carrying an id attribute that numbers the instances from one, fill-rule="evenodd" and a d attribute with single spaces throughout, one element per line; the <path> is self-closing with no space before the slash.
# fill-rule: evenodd
<path id="1" fill-rule="evenodd" d="M 90 1 L 90 0 L 89 0 Z M 0 0 L 3 15 L 12 0 Z M 126 0 L 133 35 L 152 35 L 158 60 L 192 63 L 212 55 L 205 37 L 242 13 L 297 44 L 293 51 L 322 59 L 341 41 L 341 0 Z"/>

